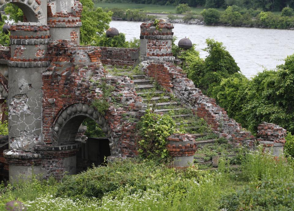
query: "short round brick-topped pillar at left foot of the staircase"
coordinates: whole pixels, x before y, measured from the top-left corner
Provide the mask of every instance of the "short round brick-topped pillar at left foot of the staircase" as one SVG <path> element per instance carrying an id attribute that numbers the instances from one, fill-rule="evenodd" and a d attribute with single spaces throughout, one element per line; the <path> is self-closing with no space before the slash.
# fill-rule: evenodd
<path id="1" fill-rule="evenodd" d="M 189 134 L 172 134 L 167 141 L 167 149 L 174 160 L 175 167 L 194 165 L 194 154 L 197 150 L 195 138 Z"/>

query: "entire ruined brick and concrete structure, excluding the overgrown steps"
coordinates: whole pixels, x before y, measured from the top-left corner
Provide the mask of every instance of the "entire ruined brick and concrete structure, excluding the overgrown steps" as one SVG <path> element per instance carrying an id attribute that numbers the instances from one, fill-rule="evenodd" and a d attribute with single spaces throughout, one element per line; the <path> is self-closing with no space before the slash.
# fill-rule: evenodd
<path id="1" fill-rule="evenodd" d="M 172 24 L 161 20 L 158 30 L 151 22 L 142 23 L 140 49 L 80 46 L 79 1 L 6 3 L 18 5 L 27 20 L 11 26 L 10 46 L 0 49 L 0 98 L 7 101 L 9 124 L 8 137 L 0 137 L 0 170 L 9 170 L 9 177 L 17 178 L 20 173 L 28 176 L 32 170 L 56 178 L 66 172 L 76 173 L 76 155 L 85 142 L 85 129 L 80 126 L 86 118 L 94 120 L 109 140 L 111 155 L 107 159 L 138 154 L 136 121 L 128 118 L 138 120 L 146 103 L 136 92 L 135 80 L 112 76 L 103 64 L 141 63 L 146 76 L 174 93 L 220 137 L 236 145 L 254 146 L 255 137 L 174 65 Z M 105 115 L 91 106 L 103 97 L 102 81 L 113 87 Z M 264 141 L 265 147 L 283 147 L 284 129 L 268 123 L 258 129 L 258 140 Z M 174 134 L 168 141 L 175 143 L 167 148 L 172 155 L 191 158 L 196 150 L 193 140 L 190 134 Z"/>

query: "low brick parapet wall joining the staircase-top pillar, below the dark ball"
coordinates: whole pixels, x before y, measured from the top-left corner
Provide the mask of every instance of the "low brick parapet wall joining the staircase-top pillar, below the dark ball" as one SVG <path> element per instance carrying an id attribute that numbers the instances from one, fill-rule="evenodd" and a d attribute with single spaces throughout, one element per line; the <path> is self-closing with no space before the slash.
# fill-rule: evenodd
<path id="1" fill-rule="evenodd" d="M 116 66 L 134 66 L 139 59 L 137 48 L 100 47 L 102 64 Z"/>

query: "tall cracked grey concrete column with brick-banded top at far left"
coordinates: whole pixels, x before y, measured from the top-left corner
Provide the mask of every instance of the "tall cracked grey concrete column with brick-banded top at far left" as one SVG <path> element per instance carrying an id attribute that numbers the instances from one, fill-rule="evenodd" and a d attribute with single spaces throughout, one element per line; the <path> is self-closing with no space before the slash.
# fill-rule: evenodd
<path id="1" fill-rule="evenodd" d="M 35 145 L 44 145 L 42 73 L 50 64 L 47 59 L 49 27 L 41 23 L 18 22 L 11 26 L 10 32 L 11 58 L 8 62 L 7 100 L 9 149 L 15 152 L 15 155 L 31 154 Z M 18 173 L 32 173 L 33 163 L 28 160 L 27 162 L 9 160 L 9 177 L 15 177 Z"/>

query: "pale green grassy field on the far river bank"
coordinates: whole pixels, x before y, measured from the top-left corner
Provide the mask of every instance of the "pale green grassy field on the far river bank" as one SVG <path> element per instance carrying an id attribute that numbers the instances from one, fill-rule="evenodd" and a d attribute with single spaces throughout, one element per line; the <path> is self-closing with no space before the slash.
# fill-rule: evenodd
<path id="1" fill-rule="evenodd" d="M 146 4 L 128 4 L 128 3 L 95 3 L 95 7 L 102 8 L 122 8 L 122 9 L 141 9 L 142 12 L 147 13 L 175 13 L 175 6 L 164 6 L 164 5 L 146 5 Z M 192 11 L 196 13 L 201 13 L 203 7 L 193 7 Z M 223 11 L 224 9 L 220 9 Z"/>

